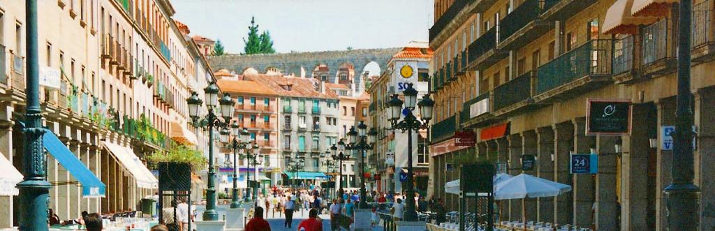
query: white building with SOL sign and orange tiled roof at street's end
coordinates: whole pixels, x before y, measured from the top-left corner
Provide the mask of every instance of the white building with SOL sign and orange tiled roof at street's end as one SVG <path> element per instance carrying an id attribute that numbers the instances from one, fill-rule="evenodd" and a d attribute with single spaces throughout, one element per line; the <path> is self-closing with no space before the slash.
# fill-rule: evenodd
<path id="1" fill-rule="evenodd" d="M 407 89 L 408 84 L 418 91 L 418 99 L 428 94 L 429 89 L 429 64 L 433 51 L 425 42 L 412 41 L 403 49 L 393 55 L 388 67 L 378 79 L 368 88 L 372 99 L 368 105 L 365 117 L 370 118 L 370 124 L 378 130 L 377 142 L 373 146 L 373 154 L 368 159 L 373 159 L 376 164 L 376 174 L 380 175 L 377 189 L 381 192 L 402 192 L 399 171 L 408 167 L 408 132 L 390 130 L 388 118 L 388 101 L 394 94 L 399 94 Z M 410 76 L 403 76 L 402 69 L 410 69 Z M 407 72 L 405 72 L 407 73 Z M 363 109 L 364 110 L 364 109 Z M 415 117 L 420 118 L 419 109 L 413 111 Z M 420 195 L 426 195 L 428 190 L 428 164 L 426 129 L 413 131 L 413 168 L 415 172 L 415 190 Z M 389 156 L 389 158 L 388 158 Z"/>

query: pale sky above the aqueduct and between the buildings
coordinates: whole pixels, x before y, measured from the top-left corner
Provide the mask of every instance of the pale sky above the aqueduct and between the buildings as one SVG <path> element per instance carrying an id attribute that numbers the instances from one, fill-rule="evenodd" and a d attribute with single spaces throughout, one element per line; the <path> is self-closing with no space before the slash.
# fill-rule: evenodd
<path id="1" fill-rule="evenodd" d="M 243 51 L 251 16 L 270 31 L 273 48 L 332 51 L 405 46 L 428 41 L 434 0 L 172 0 L 174 19 L 191 35 L 220 39 Z"/>

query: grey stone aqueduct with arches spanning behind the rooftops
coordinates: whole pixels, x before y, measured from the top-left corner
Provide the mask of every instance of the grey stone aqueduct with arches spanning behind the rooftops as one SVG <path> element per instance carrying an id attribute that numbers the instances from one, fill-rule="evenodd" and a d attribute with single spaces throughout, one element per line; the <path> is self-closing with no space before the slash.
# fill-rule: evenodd
<path id="1" fill-rule="evenodd" d="M 313 69 L 320 64 L 327 65 L 330 69 L 330 82 L 335 82 L 335 73 L 341 64 L 350 63 L 355 67 L 355 82 L 360 81 L 365 65 L 377 62 L 380 70 L 387 69 L 387 64 L 394 54 L 401 48 L 386 49 L 355 49 L 350 51 L 317 51 L 285 54 L 252 54 L 239 55 L 227 54 L 223 56 L 209 56 L 208 60 L 212 69 L 228 69 L 243 73 L 245 69 L 253 68 L 265 73 L 269 67 L 280 69 L 285 74 L 300 76 L 301 69 L 305 70 L 305 77 L 312 77 Z"/>

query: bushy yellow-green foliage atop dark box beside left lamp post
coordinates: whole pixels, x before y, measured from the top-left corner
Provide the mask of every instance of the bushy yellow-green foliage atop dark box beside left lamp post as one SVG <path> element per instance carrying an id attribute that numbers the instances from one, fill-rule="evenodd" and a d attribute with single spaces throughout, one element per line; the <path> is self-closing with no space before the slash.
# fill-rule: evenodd
<path id="1" fill-rule="evenodd" d="M 149 161 L 154 164 L 159 162 L 188 163 L 194 170 L 203 169 L 207 162 L 201 152 L 185 145 L 174 145 L 168 152 L 157 150 L 149 156 Z"/>

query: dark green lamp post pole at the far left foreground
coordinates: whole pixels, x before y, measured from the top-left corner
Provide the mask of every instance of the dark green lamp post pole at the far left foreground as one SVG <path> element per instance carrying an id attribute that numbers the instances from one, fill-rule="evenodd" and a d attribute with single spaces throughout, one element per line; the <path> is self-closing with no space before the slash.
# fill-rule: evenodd
<path id="1" fill-rule="evenodd" d="M 22 159 L 23 180 L 17 184 L 20 201 L 24 209 L 20 211 L 20 230 L 47 230 L 47 202 L 49 182 L 45 180 L 46 158 L 42 135 L 42 113 L 39 94 L 39 64 L 37 49 L 37 1 L 25 1 L 27 76 L 25 106 L 24 156 Z"/>

